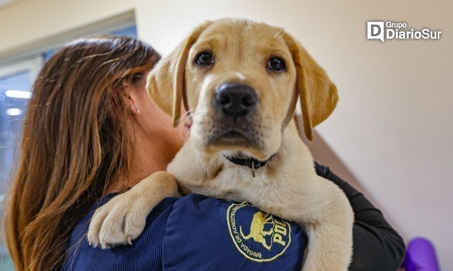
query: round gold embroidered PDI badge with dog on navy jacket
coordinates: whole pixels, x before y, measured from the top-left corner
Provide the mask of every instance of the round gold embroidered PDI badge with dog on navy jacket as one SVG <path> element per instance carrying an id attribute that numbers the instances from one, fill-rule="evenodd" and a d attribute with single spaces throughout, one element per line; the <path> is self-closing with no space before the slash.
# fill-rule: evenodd
<path id="1" fill-rule="evenodd" d="M 291 243 L 288 222 L 257 212 L 247 202 L 233 203 L 228 207 L 227 223 L 236 248 L 253 261 L 272 261 L 282 255 Z"/>

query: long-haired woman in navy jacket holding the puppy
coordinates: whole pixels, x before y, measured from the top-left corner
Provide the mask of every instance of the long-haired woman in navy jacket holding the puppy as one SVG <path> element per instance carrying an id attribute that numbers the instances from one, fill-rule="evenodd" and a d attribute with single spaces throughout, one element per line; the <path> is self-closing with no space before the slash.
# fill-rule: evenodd
<path id="1" fill-rule="evenodd" d="M 224 206 L 230 203 L 200 195 L 162 201 L 131 246 L 102 250 L 88 244 L 96 207 L 165 170 L 184 143 L 186 128 L 172 128 L 171 117 L 145 89 L 146 74 L 159 58 L 143 42 L 105 36 L 64 46 L 42 68 L 5 214 L 18 270 L 300 267 L 306 245 L 300 228 L 292 225 L 292 239 L 280 236 L 272 248 L 266 239 L 264 245 L 247 243 L 251 256 L 243 255 L 226 228 Z M 404 255 L 398 233 L 361 193 L 327 167 L 316 169 L 344 190 L 354 209 L 351 268 L 397 268 Z M 283 243 L 288 246 L 279 250 Z"/>

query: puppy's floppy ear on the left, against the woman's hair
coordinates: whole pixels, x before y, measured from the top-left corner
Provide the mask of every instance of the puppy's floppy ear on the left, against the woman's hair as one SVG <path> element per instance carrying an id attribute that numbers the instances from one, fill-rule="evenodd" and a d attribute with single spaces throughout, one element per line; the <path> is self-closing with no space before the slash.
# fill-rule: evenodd
<path id="1" fill-rule="evenodd" d="M 173 117 L 174 127 L 178 126 L 181 117 L 181 102 L 185 95 L 184 74 L 190 47 L 210 24 L 210 21 L 205 21 L 197 26 L 170 54 L 160 59 L 147 77 L 151 99 Z"/>

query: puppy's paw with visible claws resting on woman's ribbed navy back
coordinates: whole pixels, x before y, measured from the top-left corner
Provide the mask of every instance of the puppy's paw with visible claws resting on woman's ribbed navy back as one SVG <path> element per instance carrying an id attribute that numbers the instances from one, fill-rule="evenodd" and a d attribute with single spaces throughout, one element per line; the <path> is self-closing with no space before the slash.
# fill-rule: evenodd
<path id="1" fill-rule="evenodd" d="M 143 232 L 146 218 L 153 209 L 144 195 L 128 191 L 98 208 L 88 230 L 90 245 L 103 249 L 132 244 Z"/>

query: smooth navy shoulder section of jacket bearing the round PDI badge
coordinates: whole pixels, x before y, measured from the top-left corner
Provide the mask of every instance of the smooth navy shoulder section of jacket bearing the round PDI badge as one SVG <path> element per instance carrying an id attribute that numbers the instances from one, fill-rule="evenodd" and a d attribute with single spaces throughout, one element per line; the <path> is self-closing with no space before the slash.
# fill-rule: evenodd
<path id="1" fill-rule="evenodd" d="M 300 227 L 247 202 L 192 194 L 168 216 L 163 269 L 299 270 L 306 242 Z"/>

